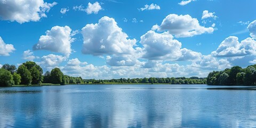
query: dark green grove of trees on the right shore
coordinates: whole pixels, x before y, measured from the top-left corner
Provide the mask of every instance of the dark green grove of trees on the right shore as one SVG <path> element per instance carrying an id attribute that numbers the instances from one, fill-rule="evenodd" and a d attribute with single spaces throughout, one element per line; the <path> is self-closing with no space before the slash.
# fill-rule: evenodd
<path id="1" fill-rule="evenodd" d="M 256 65 L 213 71 L 206 79 L 208 85 L 256 85 Z"/>

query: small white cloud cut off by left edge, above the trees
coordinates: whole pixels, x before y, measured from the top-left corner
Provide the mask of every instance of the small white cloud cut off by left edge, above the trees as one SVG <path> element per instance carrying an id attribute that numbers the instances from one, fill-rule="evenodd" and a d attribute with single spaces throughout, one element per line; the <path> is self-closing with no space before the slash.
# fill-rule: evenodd
<path id="1" fill-rule="evenodd" d="M 5 44 L 0 36 L 0 56 L 9 56 L 14 50 L 14 46 L 12 44 Z"/>

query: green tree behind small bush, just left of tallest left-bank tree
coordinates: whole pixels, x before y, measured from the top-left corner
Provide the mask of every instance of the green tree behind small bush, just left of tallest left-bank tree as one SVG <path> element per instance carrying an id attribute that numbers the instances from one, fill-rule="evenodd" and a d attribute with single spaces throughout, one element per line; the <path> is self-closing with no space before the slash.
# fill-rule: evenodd
<path id="1" fill-rule="evenodd" d="M 20 65 L 19 68 L 17 69 L 17 74 L 21 76 L 21 83 L 24 85 L 29 85 L 32 82 L 32 76 L 30 71 L 27 69 L 26 66 Z"/>

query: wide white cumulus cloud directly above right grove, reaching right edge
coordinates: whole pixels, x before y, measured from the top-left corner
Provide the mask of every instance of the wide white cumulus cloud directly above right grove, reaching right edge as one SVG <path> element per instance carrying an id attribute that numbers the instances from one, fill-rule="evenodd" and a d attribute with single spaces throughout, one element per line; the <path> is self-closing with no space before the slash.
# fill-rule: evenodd
<path id="1" fill-rule="evenodd" d="M 239 57 L 256 54 L 256 41 L 252 38 L 246 38 L 241 43 L 238 37 L 229 36 L 221 42 L 218 49 L 211 53 L 214 57 Z"/>

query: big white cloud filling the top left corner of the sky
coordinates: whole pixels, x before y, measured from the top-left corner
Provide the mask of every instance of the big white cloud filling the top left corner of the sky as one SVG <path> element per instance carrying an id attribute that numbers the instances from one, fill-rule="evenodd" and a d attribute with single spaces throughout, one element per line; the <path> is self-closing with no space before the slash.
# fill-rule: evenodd
<path id="1" fill-rule="evenodd" d="M 41 18 L 47 17 L 45 12 L 49 12 L 54 5 L 57 5 L 57 3 L 47 3 L 43 0 L 4 0 L 0 1 L 0 17 L 2 20 L 19 23 L 39 21 Z"/>

